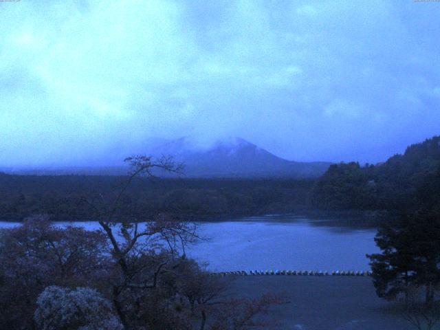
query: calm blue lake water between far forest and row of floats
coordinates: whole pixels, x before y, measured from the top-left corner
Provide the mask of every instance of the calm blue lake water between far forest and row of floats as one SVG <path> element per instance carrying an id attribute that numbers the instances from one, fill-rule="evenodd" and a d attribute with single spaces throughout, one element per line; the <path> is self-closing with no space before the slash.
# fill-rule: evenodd
<path id="1" fill-rule="evenodd" d="M 99 228 L 94 221 L 70 224 Z M 0 222 L 0 228 L 14 225 Z M 199 234 L 206 240 L 190 246 L 187 254 L 212 271 L 369 270 L 365 254 L 379 251 L 373 229 L 293 215 L 200 223 Z"/>

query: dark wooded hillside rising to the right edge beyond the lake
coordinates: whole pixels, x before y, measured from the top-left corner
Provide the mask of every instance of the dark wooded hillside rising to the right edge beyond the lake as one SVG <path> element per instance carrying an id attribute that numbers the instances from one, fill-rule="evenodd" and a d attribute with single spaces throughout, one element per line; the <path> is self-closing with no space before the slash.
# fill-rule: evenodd
<path id="1" fill-rule="evenodd" d="M 314 188 L 311 203 L 325 210 L 414 210 L 424 198 L 439 200 L 440 137 L 409 146 L 383 164 L 331 165 Z"/>

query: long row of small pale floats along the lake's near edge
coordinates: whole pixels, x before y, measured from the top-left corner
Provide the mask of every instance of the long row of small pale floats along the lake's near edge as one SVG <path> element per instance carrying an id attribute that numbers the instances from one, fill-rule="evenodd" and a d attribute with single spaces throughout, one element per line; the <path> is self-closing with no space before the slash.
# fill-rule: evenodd
<path id="1" fill-rule="evenodd" d="M 298 275 L 298 276 L 371 276 L 369 271 L 333 271 L 322 272 L 322 271 L 309 271 L 309 270 L 251 270 L 246 272 L 245 270 L 239 270 L 235 272 L 219 272 L 211 273 L 213 276 L 228 276 L 228 275 Z"/>

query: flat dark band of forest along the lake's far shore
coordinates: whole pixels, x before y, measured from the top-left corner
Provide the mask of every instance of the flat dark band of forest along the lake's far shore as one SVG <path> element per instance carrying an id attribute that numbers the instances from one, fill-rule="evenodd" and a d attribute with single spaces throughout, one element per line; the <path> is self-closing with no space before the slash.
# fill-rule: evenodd
<path id="1" fill-rule="evenodd" d="M 0 219 L 48 214 L 52 220 L 93 219 L 80 197 L 110 200 L 125 177 L 98 175 L 0 174 Z M 135 178 L 118 217 L 149 219 L 159 212 L 188 219 L 214 219 L 309 206 L 314 180 Z"/>

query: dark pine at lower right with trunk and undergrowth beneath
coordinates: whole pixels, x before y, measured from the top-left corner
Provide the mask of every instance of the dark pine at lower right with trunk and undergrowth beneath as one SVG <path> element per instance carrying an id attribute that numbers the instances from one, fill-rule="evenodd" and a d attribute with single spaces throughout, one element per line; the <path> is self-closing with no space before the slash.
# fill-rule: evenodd
<path id="1" fill-rule="evenodd" d="M 439 186 L 440 188 L 440 186 Z M 375 237 L 380 254 L 369 255 L 377 296 L 401 300 L 415 329 L 440 325 L 440 212 L 436 203 L 383 221 Z"/>

